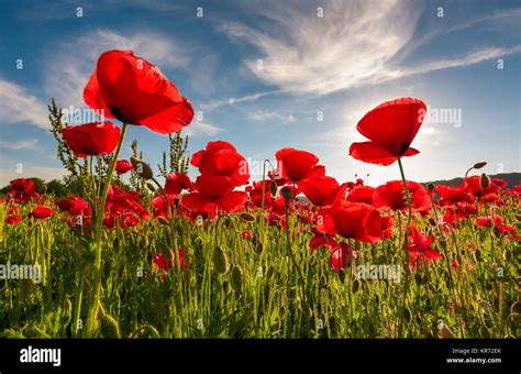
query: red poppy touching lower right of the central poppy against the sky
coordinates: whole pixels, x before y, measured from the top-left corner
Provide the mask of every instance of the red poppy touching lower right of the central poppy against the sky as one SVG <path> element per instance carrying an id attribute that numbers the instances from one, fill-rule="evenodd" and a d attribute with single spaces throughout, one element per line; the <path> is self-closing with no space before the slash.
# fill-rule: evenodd
<path id="1" fill-rule="evenodd" d="M 333 177 L 318 177 L 304 179 L 299 184 L 300 189 L 306 197 L 317 207 L 332 205 L 335 200 L 345 198 L 345 184 L 339 186 Z"/>

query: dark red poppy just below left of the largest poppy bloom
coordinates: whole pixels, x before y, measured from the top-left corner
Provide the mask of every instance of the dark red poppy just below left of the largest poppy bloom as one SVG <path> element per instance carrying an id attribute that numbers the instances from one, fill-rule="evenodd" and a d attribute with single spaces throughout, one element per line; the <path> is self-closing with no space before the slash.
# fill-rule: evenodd
<path id="1" fill-rule="evenodd" d="M 112 122 L 91 122 L 62 129 L 70 150 L 78 157 L 104 155 L 114 152 L 121 129 Z"/>

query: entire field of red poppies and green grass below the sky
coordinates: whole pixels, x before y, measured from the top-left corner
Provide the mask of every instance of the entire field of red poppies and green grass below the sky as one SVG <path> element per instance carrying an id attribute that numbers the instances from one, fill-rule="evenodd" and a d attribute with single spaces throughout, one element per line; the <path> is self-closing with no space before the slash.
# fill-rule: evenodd
<path id="1" fill-rule="evenodd" d="M 358 121 L 367 141 L 345 157 L 393 168 L 380 186 L 291 147 L 260 180 L 241 144 L 187 154 L 190 101 L 130 51 L 99 57 L 84 100 L 106 120 L 68 125 L 49 106 L 68 196 L 18 178 L 2 198 L 1 337 L 519 337 L 521 185 L 480 160 L 456 187 L 409 180 L 422 100 Z M 136 142 L 119 157 L 133 125 L 169 136 L 163 165 Z"/>

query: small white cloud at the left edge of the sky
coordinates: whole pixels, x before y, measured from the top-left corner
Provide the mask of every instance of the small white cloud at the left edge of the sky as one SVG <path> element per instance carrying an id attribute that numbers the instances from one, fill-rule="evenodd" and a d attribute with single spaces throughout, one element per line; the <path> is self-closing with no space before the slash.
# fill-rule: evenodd
<path id="1" fill-rule="evenodd" d="M 22 86 L 0 79 L 1 123 L 31 122 L 41 129 L 51 129 L 47 108 Z"/>

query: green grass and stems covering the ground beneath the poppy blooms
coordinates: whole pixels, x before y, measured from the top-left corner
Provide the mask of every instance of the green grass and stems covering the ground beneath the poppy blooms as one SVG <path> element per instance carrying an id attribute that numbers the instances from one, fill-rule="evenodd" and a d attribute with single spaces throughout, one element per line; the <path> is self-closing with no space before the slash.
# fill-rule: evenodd
<path id="1" fill-rule="evenodd" d="M 85 235 L 67 224 L 66 213 L 31 223 L 31 209 L 21 206 L 24 221 L 0 230 L 0 264 L 43 264 L 43 282 L 0 283 L 0 336 L 81 337 L 75 316 L 86 323 L 78 300 L 90 290 L 81 279 L 91 272 L 92 253 Z M 497 213 L 519 226 L 518 210 L 506 197 Z M 429 216 L 418 217 L 414 223 L 435 237 L 432 245 L 443 258 L 420 263 L 409 283 L 404 271 L 401 282 L 358 279 L 357 265 L 403 263 L 398 228 L 393 239 L 376 244 L 351 242 L 358 255 L 351 267 L 336 272 L 329 265 L 330 251 L 311 251 L 313 234 L 291 215 L 287 226 L 297 270 L 286 251 L 285 230 L 266 226 L 258 211 L 251 213 L 254 221 L 230 215 L 226 222 L 202 227 L 176 217 L 175 248 L 169 227 L 154 220 L 104 229 L 97 337 L 439 338 L 451 331 L 457 338 L 519 338 L 520 252 L 512 238 L 476 228 L 472 220 L 439 233 Z M 255 251 L 253 241 L 241 235 L 244 230 L 263 233 L 256 240 L 264 251 Z M 185 266 L 176 266 L 170 254 L 179 248 Z M 170 270 L 154 266 L 158 252 L 173 260 Z"/>

